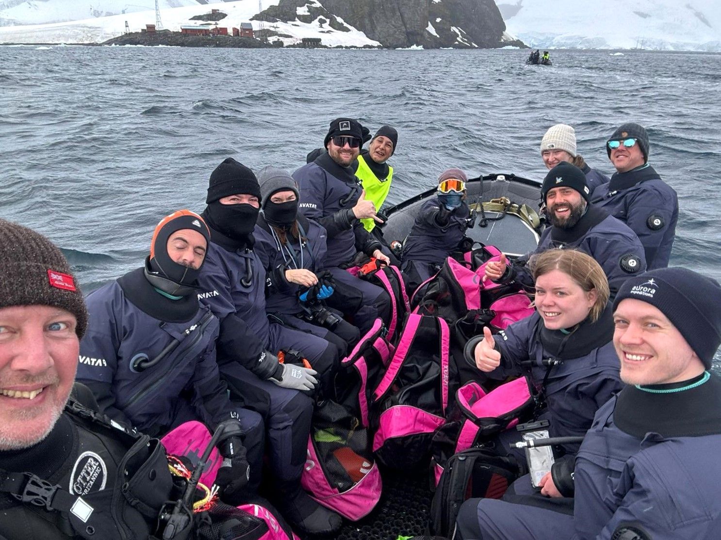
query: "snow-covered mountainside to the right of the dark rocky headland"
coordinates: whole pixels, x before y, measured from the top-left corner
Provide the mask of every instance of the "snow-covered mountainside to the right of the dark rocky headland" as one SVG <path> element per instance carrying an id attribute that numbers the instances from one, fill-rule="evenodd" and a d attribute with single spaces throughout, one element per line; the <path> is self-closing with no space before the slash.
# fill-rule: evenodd
<path id="1" fill-rule="evenodd" d="M 534 48 L 721 51 L 720 0 L 495 0 Z"/>

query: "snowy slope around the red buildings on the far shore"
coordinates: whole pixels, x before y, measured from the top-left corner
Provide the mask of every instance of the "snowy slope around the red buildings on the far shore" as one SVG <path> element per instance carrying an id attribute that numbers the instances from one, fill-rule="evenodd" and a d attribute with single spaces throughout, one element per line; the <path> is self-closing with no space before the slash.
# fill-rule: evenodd
<path id="1" fill-rule="evenodd" d="M 102 9 L 99 6 L 102 1 Z M 261 0 L 262 9 L 278 5 L 279 0 Z M 128 2 L 133 2 L 129 4 Z M 162 27 L 180 32 L 185 24 L 198 24 L 190 20 L 196 15 L 208 14 L 219 9 L 228 17 L 218 26 L 239 27 L 241 22 L 251 22 L 254 30 L 260 22 L 250 21 L 259 12 L 258 0 L 236 0 L 208 3 L 206 0 L 159 0 Z M 0 43 L 94 43 L 123 35 L 125 22 L 131 32 L 139 32 L 146 24 L 155 24 L 155 0 L 0 0 Z M 92 12 L 92 13 L 91 13 Z M 340 20 L 340 18 L 339 18 Z M 9 21 L 13 21 L 7 25 Z M 58 22 L 62 21 L 62 22 Z M 342 22 L 342 20 L 340 20 Z M 265 27 L 269 27 L 265 23 Z M 303 37 L 319 37 L 324 45 L 380 45 L 368 39 L 350 24 L 349 32 L 333 30 L 318 20 L 273 23 L 273 30 L 281 35 L 286 45 L 299 42 Z"/>

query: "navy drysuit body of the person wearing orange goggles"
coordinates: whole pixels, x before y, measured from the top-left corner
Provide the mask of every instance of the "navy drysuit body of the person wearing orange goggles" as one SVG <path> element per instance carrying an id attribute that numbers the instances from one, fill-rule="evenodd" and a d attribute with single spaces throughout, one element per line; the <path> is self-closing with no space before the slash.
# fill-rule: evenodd
<path id="1" fill-rule="evenodd" d="M 435 275 L 448 255 L 458 248 L 466 235 L 470 215 L 465 202 L 454 210 L 443 207 L 438 197 L 423 203 L 403 244 L 402 271 L 411 291 Z"/>

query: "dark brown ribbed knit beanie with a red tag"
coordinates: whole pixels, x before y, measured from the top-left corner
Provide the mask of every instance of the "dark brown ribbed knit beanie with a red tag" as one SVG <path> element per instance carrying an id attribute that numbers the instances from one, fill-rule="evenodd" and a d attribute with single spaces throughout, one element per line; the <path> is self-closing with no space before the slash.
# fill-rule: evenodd
<path id="1" fill-rule="evenodd" d="M 0 220 L 0 258 L 0 309 L 59 307 L 75 315 L 75 333 L 83 337 L 88 320 L 83 295 L 55 244 L 32 229 Z"/>

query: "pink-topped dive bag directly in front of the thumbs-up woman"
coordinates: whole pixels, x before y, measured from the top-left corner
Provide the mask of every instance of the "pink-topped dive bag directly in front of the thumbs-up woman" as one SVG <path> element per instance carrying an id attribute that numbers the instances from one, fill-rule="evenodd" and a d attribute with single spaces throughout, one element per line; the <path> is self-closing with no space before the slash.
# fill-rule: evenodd
<path id="1" fill-rule="evenodd" d="M 456 405 L 448 423 L 433 433 L 431 466 L 436 485 L 451 456 L 526 420 L 534 410 L 534 392 L 527 377 L 513 379 L 488 393 L 477 382 L 469 382 L 456 392 Z"/>

